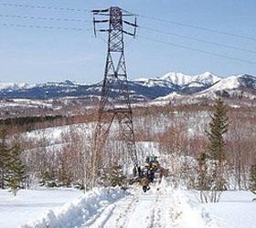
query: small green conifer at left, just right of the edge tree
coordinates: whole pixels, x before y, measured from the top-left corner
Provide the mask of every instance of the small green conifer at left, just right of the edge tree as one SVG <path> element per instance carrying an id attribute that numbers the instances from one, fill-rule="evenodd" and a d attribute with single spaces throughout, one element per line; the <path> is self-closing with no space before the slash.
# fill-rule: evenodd
<path id="1" fill-rule="evenodd" d="M 15 145 L 8 154 L 8 187 L 16 195 L 16 192 L 23 188 L 23 181 L 25 179 L 25 165 L 20 159 L 22 150 L 18 144 Z"/>

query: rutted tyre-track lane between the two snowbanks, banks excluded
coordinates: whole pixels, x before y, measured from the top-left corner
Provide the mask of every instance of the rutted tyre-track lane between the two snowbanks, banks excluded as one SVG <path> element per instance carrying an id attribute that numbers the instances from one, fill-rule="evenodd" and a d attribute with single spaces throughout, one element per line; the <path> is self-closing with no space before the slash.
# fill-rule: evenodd
<path id="1" fill-rule="evenodd" d="M 108 205 L 97 218 L 81 227 L 177 227 L 176 220 L 181 213 L 176 212 L 174 206 L 174 198 L 161 192 L 129 195 Z"/>

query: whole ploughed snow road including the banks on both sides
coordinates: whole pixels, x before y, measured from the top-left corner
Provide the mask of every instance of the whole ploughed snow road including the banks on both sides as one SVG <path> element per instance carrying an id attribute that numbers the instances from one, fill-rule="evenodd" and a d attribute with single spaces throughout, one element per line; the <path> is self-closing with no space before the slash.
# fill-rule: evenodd
<path id="1" fill-rule="evenodd" d="M 218 227 L 202 208 L 189 204 L 179 191 L 129 193 L 101 189 L 72 202 L 59 212 L 47 212 L 43 218 L 23 227 L 37 228 L 205 228 Z"/>

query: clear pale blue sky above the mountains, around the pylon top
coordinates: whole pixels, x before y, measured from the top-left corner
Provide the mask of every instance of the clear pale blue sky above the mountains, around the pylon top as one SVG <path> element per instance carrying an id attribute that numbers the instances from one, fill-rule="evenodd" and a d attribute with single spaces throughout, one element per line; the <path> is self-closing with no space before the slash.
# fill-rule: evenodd
<path id="1" fill-rule="evenodd" d="M 30 5 L 30 7 L 15 5 Z M 36 8 L 31 5 L 51 8 Z M 138 16 L 137 22 L 141 27 L 137 38 L 125 38 L 125 57 L 130 79 L 161 77 L 167 72 L 197 75 L 210 71 L 220 77 L 239 73 L 256 75 L 255 0 L 0 0 L 0 82 L 33 84 L 67 79 L 82 83 L 100 81 L 103 78 L 107 50 L 103 39 L 107 36 L 101 35 L 98 38 L 93 36 L 90 11 L 112 5 L 120 6 L 138 15 L 206 27 L 239 36 L 255 37 L 253 40 L 225 36 Z M 79 10 L 59 10 L 52 7 Z M 33 16 L 52 17 L 54 20 L 35 19 Z M 69 21 L 57 20 L 58 18 Z M 70 21 L 73 19 L 80 21 Z M 26 27 L 17 27 L 17 25 Z M 28 26 L 85 30 L 40 29 Z M 159 34 L 144 27 L 175 33 L 178 36 Z M 180 36 L 239 47 L 255 53 L 205 44 Z M 144 37 L 244 59 L 251 64 L 154 42 Z"/>

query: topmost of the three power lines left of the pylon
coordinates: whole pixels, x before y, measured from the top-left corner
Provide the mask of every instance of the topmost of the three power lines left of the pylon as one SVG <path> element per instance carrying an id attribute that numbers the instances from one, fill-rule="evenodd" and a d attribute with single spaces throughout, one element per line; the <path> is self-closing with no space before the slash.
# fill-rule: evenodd
<path id="1" fill-rule="evenodd" d="M 44 5 L 24 5 L 24 4 L 12 4 L 12 3 L 2 3 L 2 5 L 10 6 L 10 7 L 46 9 L 46 10 L 60 10 L 60 11 L 72 11 L 72 12 L 88 12 L 89 11 L 89 10 L 86 10 L 86 9 L 57 7 L 57 6 L 44 6 Z"/>

